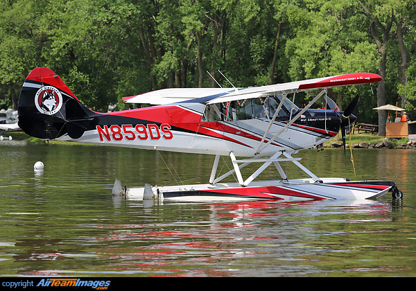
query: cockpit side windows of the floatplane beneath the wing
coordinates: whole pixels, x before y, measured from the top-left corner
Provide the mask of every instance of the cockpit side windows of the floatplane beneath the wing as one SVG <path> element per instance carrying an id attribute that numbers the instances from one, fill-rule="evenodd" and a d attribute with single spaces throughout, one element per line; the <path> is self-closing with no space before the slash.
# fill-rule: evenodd
<path id="1" fill-rule="evenodd" d="M 236 121 L 255 118 L 271 120 L 279 107 L 281 98 L 283 98 L 282 94 L 207 105 L 202 121 Z M 291 100 L 286 98 L 276 119 L 288 120 L 291 110 L 294 114 L 298 109 Z"/>

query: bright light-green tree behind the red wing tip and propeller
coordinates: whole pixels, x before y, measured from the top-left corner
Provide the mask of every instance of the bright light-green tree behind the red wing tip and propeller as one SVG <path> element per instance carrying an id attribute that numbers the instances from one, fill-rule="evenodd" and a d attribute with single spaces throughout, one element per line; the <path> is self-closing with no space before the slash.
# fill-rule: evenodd
<path id="1" fill-rule="evenodd" d="M 363 21 L 350 1 L 303 1 L 303 5 L 288 6 L 287 11 L 295 33 L 286 42 L 291 80 L 376 72 L 379 63 L 376 46 L 361 28 Z M 368 122 L 376 114 L 371 110 L 375 107 L 372 87 L 338 87 L 328 91 L 341 109 L 357 93 L 362 97 L 354 114 Z M 306 94 L 306 100 L 310 99 L 311 94 Z"/>

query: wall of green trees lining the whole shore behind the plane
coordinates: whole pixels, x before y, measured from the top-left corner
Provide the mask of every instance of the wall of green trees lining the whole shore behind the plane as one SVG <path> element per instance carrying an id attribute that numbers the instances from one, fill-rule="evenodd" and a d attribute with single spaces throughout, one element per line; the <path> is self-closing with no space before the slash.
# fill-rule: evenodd
<path id="1" fill-rule="evenodd" d="M 328 94 L 341 108 L 361 94 L 359 120 L 381 123 L 372 107 L 416 104 L 414 11 L 413 0 L 3 0 L 0 107 L 17 107 L 35 67 L 99 111 L 155 89 L 217 86 L 207 71 L 237 87 L 365 71 L 383 82 Z"/>

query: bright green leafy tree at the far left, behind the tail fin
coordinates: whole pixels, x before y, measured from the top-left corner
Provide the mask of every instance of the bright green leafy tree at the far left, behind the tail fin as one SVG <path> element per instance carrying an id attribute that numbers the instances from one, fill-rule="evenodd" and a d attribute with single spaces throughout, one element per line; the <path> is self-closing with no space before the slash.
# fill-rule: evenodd
<path id="1" fill-rule="evenodd" d="M 36 0 L 0 2 L 0 99 L 3 107 L 17 109 L 24 78 L 42 63 L 42 46 L 47 40 L 42 29 L 45 5 L 49 8 L 48 3 Z"/>

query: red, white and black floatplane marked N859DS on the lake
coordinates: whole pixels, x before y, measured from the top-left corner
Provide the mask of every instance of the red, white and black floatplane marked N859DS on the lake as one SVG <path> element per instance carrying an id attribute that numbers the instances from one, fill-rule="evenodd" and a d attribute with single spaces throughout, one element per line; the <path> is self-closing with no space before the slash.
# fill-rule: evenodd
<path id="1" fill-rule="evenodd" d="M 19 127 L 45 140 L 215 157 L 207 184 L 123 188 L 115 179 L 113 195 L 182 202 L 308 201 L 372 199 L 392 191 L 393 197 L 400 198 L 395 182 L 322 178 L 302 165 L 301 158 L 292 157 L 300 150 L 323 149 L 322 144 L 340 129 L 345 145 L 345 127 L 356 120 L 352 112 L 359 96 L 340 111 L 327 97 L 329 88 L 380 81 L 374 73 L 348 73 L 261 87 L 160 89 L 123 98 L 126 103 L 153 106 L 98 113 L 85 107 L 51 69 L 37 68 L 21 88 Z M 318 94 L 306 107 L 297 107 L 295 94 L 311 90 Z M 311 109 L 321 96 L 330 109 Z M 216 177 L 224 156 L 231 159 L 232 168 Z M 288 179 L 281 166 L 284 162 L 293 163 L 309 178 Z M 252 163 L 260 166 L 244 178 L 241 169 Z M 255 180 L 270 165 L 281 179 Z M 234 175 L 236 182 L 222 182 L 229 175 Z"/>

